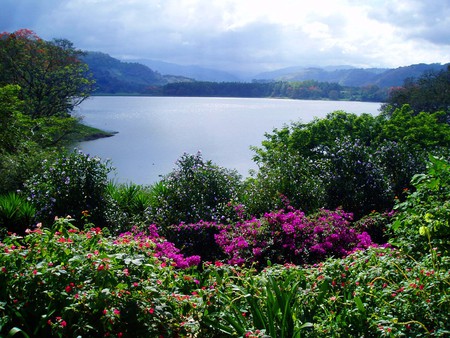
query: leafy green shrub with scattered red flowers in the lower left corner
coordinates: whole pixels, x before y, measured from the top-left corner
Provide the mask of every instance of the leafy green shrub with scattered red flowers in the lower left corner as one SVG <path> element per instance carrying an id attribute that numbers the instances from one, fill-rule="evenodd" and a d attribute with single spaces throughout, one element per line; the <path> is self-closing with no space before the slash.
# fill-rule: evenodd
<path id="1" fill-rule="evenodd" d="M 110 237 L 72 219 L 0 243 L 0 335 L 12 326 L 33 336 L 157 336 L 189 331 L 201 307 L 198 279 L 155 227 Z M 178 298 L 182 299 L 180 301 Z"/>

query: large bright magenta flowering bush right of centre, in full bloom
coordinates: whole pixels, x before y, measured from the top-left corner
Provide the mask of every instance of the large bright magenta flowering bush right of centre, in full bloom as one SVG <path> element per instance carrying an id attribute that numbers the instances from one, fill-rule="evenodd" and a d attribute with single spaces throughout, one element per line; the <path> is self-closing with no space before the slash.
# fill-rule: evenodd
<path id="1" fill-rule="evenodd" d="M 229 264 L 305 264 L 326 257 L 343 257 L 372 245 L 370 236 L 351 223 L 352 214 L 322 209 L 306 216 L 289 208 L 266 213 L 235 225 L 222 226 L 215 235 Z"/>

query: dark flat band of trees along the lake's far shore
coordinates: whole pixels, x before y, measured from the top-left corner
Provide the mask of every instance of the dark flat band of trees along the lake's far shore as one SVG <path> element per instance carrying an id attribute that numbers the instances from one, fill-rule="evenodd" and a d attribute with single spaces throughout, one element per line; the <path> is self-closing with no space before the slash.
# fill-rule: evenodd
<path id="1" fill-rule="evenodd" d="M 277 82 L 177 82 L 145 90 L 147 95 L 200 97 L 274 97 L 302 100 L 351 100 L 384 102 L 387 89 L 378 86 L 346 87 L 338 83 Z"/>

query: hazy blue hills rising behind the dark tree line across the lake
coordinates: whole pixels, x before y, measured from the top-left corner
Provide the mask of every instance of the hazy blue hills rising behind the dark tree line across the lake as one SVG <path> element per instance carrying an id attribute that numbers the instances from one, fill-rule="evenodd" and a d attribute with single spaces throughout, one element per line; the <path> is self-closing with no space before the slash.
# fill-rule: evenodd
<path id="1" fill-rule="evenodd" d="M 307 81 L 337 83 L 341 86 L 377 86 L 389 88 L 403 85 L 407 78 L 418 78 L 426 72 L 438 72 L 448 64 L 417 64 L 395 69 L 355 68 L 352 66 L 288 67 L 262 72 L 251 77 L 201 66 L 185 66 L 155 60 L 122 61 L 101 52 L 87 52 L 83 57 L 97 81 L 97 93 L 144 93 L 152 86 L 177 82 L 274 82 Z"/>

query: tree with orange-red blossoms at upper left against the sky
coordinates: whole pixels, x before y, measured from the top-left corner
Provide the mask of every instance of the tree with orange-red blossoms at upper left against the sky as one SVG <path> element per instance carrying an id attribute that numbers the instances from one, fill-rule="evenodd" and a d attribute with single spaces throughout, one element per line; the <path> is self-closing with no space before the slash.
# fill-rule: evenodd
<path id="1" fill-rule="evenodd" d="M 67 117 L 94 89 L 83 53 L 65 39 L 51 42 L 21 29 L 0 34 L 0 86 L 21 87 L 24 113 Z"/>

